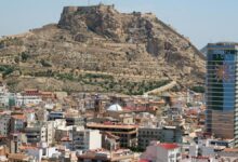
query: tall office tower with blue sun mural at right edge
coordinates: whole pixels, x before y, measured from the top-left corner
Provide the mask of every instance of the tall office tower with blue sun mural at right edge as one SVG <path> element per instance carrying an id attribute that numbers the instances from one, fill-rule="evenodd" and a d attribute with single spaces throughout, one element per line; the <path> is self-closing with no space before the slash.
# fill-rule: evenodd
<path id="1" fill-rule="evenodd" d="M 207 131 L 238 145 L 238 43 L 208 44 Z"/>

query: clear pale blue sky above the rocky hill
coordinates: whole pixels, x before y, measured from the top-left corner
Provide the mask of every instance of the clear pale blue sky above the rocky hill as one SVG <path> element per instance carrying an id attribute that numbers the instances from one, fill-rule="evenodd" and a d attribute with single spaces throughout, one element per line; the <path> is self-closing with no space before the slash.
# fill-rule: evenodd
<path id="1" fill-rule="evenodd" d="M 121 12 L 153 12 L 199 49 L 209 42 L 238 42 L 238 0 L 90 0 L 98 2 L 114 3 Z M 57 23 L 63 6 L 87 4 L 88 0 L 1 0 L 0 36 Z"/>

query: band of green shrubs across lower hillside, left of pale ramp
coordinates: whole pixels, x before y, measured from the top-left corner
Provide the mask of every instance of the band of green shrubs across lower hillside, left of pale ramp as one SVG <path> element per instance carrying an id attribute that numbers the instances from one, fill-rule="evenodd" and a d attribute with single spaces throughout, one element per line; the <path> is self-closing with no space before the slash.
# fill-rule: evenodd
<path id="1" fill-rule="evenodd" d="M 101 87 L 104 92 L 117 92 L 128 95 L 143 95 L 145 92 L 158 89 L 170 82 L 170 80 L 162 81 L 142 81 L 133 82 L 128 80 L 116 80 L 114 76 L 102 73 L 85 73 L 75 76 L 72 72 L 54 73 L 52 71 L 35 73 L 37 77 L 55 77 L 58 80 L 69 80 L 80 82 L 84 85 L 93 85 Z"/>

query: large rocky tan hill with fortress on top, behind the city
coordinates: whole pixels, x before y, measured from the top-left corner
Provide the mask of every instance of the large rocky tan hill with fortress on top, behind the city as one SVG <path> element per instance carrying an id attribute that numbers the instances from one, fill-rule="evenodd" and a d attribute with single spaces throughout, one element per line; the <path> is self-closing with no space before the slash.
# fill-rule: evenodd
<path id="1" fill-rule="evenodd" d="M 66 6 L 58 24 L 2 38 L 0 72 L 16 91 L 142 94 L 171 80 L 202 84 L 204 57 L 151 13 Z"/>

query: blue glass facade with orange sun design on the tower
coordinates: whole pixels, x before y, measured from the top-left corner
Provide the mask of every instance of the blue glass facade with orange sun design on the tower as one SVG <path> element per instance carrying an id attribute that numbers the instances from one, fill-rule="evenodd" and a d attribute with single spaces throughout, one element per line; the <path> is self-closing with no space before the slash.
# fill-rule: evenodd
<path id="1" fill-rule="evenodd" d="M 207 67 L 208 109 L 234 110 L 236 86 L 235 51 L 210 50 Z"/>

